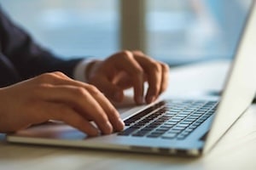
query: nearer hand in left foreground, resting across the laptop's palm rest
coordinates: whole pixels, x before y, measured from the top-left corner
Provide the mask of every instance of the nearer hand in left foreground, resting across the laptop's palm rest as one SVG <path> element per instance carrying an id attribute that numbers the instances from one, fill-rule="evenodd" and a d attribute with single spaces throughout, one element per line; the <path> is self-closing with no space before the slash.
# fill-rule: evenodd
<path id="1" fill-rule="evenodd" d="M 61 72 L 0 88 L 0 108 L 0 133 L 49 120 L 66 122 L 90 136 L 124 128 L 119 113 L 97 88 Z"/>

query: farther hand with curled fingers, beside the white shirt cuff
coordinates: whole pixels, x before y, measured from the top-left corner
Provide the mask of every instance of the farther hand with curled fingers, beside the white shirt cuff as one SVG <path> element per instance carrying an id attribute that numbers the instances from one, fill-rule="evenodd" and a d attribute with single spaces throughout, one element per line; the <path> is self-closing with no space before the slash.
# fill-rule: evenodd
<path id="1" fill-rule="evenodd" d="M 140 51 L 123 51 L 92 64 L 87 79 L 108 99 L 116 102 L 122 101 L 125 89 L 134 88 L 134 100 L 143 104 L 144 99 L 151 103 L 166 90 L 168 75 L 168 65 Z M 144 82 L 148 82 L 145 97 Z"/>

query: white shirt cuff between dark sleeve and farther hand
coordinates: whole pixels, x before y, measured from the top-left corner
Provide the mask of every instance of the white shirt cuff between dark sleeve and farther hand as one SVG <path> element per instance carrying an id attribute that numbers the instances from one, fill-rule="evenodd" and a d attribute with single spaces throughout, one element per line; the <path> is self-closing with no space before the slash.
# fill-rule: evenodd
<path id="1" fill-rule="evenodd" d="M 73 72 L 73 78 L 80 82 L 87 82 L 85 71 L 87 69 L 87 66 L 94 61 L 96 61 L 96 59 L 83 59 L 82 61 L 80 61 Z"/>

